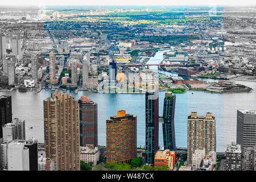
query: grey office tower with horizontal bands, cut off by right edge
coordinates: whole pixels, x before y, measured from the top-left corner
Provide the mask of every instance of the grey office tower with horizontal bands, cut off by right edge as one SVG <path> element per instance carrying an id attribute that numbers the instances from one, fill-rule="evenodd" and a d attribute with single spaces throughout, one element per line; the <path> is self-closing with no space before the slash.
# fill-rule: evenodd
<path id="1" fill-rule="evenodd" d="M 256 110 L 237 110 L 237 144 L 254 147 L 256 144 Z"/>

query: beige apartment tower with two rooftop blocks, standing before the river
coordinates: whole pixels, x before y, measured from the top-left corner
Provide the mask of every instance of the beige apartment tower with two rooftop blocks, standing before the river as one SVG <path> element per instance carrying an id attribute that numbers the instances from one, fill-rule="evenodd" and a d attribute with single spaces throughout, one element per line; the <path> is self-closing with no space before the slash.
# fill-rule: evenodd
<path id="1" fill-rule="evenodd" d="M 197 116 L 192 112 L 188 116 L 188 164 L 192 164 L 192 155 L 196 149 L 205 148 L 205 154 L 216 151 L 216 123 L 212 113 Z"/>

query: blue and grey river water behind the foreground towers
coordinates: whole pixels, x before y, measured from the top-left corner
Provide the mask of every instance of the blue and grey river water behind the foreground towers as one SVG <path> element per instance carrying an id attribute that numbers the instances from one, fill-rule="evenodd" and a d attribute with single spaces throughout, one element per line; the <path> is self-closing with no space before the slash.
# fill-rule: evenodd
<path id="1" fill-rule="evenodd" d="M 160 63 L 163 52 L 159 51 L 148 63 Z M 152 67 L 158 71 L 157 67 Z M 168 75 L 172 73 L 166 73 Z M 175 74 L 174 74 L 175 75 Z M 216 81 L 210 80 L 208 81 Z M 198 115 L 212 112 L 216 118 L 217 151 L 225 151 L 225 146 L 236 141 L 237 109 L 256 110 L 256 82 L 236 81 L 253 88 L 251 93 L 216 94 L 188 91 L 176 94 L 175 107 L 175 135 L 176 146 L 187 147 L 187 117 L 191 111 Z M 92 93 L 88 91 L 67 92 L 79 100 L 81 96 L 88 96 L 98 104 L 98 144 L 106 145 L 106 119 L 116 115 L 118 110 L 137 115 L 137 146 L 145 146 L 145 95 L 144 94 L 114 94 Z M 11 95 L 13 104 L 13 118 L 26 120 L 26 138 L 35 137 L 39 142 L 44 142 L 43 130 L 43 100 L 51 96 L 51 90 L 34 92 L 0 92 L 0 95 Z M 164 92 L 159 92 L 159 115 L 163 115 Z M 159 124 L 159 146 L 163 146 L 162 124 Z"/>

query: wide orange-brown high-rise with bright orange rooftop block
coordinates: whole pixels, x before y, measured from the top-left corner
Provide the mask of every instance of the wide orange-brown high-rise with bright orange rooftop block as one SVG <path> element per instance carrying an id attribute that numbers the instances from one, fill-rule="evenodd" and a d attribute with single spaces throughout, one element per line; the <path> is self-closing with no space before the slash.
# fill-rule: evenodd
<path id="1" fill-rule="evenodd" d="M 137 116 L 125 110 L 106 120 L 106 160 L 129 163 L 137 157 Z"/>

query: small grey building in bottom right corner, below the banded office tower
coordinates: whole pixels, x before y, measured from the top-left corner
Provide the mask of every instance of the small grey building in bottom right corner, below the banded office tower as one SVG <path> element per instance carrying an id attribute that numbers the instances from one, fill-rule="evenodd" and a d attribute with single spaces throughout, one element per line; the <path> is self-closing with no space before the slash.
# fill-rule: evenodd
<path id="1" fill-rule="evenodd" d="M 243 147 L 242 170 L 256 171 L 256 145 L 254 147 Z"/>

